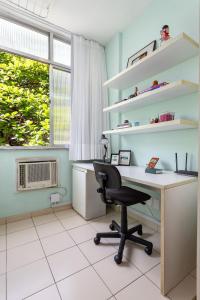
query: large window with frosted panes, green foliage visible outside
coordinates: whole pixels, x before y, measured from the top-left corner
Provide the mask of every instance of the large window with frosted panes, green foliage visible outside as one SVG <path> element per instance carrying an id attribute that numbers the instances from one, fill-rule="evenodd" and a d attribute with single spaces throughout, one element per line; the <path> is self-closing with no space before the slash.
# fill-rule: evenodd
<path id="1" fill-rule="evenodd" d="M 69 144 L 70 66 L 63 36 L 0 18 L 0 146 Z"/>

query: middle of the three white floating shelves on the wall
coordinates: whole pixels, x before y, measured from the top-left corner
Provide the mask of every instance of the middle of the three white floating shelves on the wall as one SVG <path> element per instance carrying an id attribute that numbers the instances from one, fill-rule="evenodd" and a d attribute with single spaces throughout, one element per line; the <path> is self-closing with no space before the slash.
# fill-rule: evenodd
<path id="1" fill-rule="evenodd" d="M 169 83 L 159 89 L 141 94 L 135 98 L 105 107 L 104 112 L 124 112 L 130 109 L 144 107 L 153 103 L 163 102 L 180 96 L 197 92 L 199 85 L 186 80 Z"/>

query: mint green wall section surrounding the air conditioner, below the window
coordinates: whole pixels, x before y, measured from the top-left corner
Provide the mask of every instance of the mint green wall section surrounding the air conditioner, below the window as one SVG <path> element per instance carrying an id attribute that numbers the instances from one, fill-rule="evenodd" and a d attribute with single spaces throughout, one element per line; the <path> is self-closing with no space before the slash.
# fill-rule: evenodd
<path id="1" fill-rule="evenodd" d="M 0 150 L 0 218 L 50 207 L 49 196 L 65 194 L 61 203 L 71 202 L 71 162 L 68 150 Z M 15 160 L 21 157 L 55 157 L 59 166 L 59 187 L 16 191 Z"/>

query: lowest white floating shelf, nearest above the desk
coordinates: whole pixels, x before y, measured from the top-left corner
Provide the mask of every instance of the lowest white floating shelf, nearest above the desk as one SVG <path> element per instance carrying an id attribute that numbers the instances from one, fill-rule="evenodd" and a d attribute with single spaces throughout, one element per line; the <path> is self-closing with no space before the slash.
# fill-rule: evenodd
<path id="1" fill-rule="evenodd" d="M 139 133 L 183 130 L 183 129 L 193 129 L 193 128 L 198 128 L 198 122 L 192 120 L 177 119 L 173 121 L 161 122 L 156 124 L 134 126 L 130 128 L 124 128 L 124 129 L 107 130 L 104 131 L 103 133 L 126 135 L 126 134 L 139 134 Z"/>

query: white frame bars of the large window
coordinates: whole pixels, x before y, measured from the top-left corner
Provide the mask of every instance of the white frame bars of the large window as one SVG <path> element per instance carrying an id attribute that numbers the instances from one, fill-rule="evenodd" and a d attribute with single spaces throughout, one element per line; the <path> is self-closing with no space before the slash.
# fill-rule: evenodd
<path id="1" fill-rule="evenodd" d="M 22 150 L 30 150 L 30 149 L 62 149 L 69 148 L 69 144 L 66 145 L 58 145 L 54 144 L 54 123 L 53 123 L 53 106 L 54 106 L 54 98 L 53 98 L 53 69 L 58 69 L 71 74 L 71 66 L 63 65 L 57 63 L 53 60 L 53 39 L 57 39 L 64 43 L 67 43 L 71 46 L 71 36 L 66 37 L 64 33 L 58 33 L 53 31 L 52 29 L 43 29 L 36 25 L 30 25 L 28 22 L 18 21 L 15 18 L 7 17 L 0 14 L 0 18 L 4 19 L 8 22 L 12 22 L 17 25 L 21 25 L 35 32 L 44 34 L 48 37 L 48 59 L 41 58 L 32 54 L 25 53 L 23 51 L 14 50 L 8 47 L 4 47 L 0 44 L 0 52 L 8 52 L 14 55 L 22 56 L 24 58 L 32 59 L 41 63 L 46 63 L 49 65 L 49 100 L 50 100 L 50 143 L 48 146 L 0 146 L 1 149 L 22 149 Z"/>

